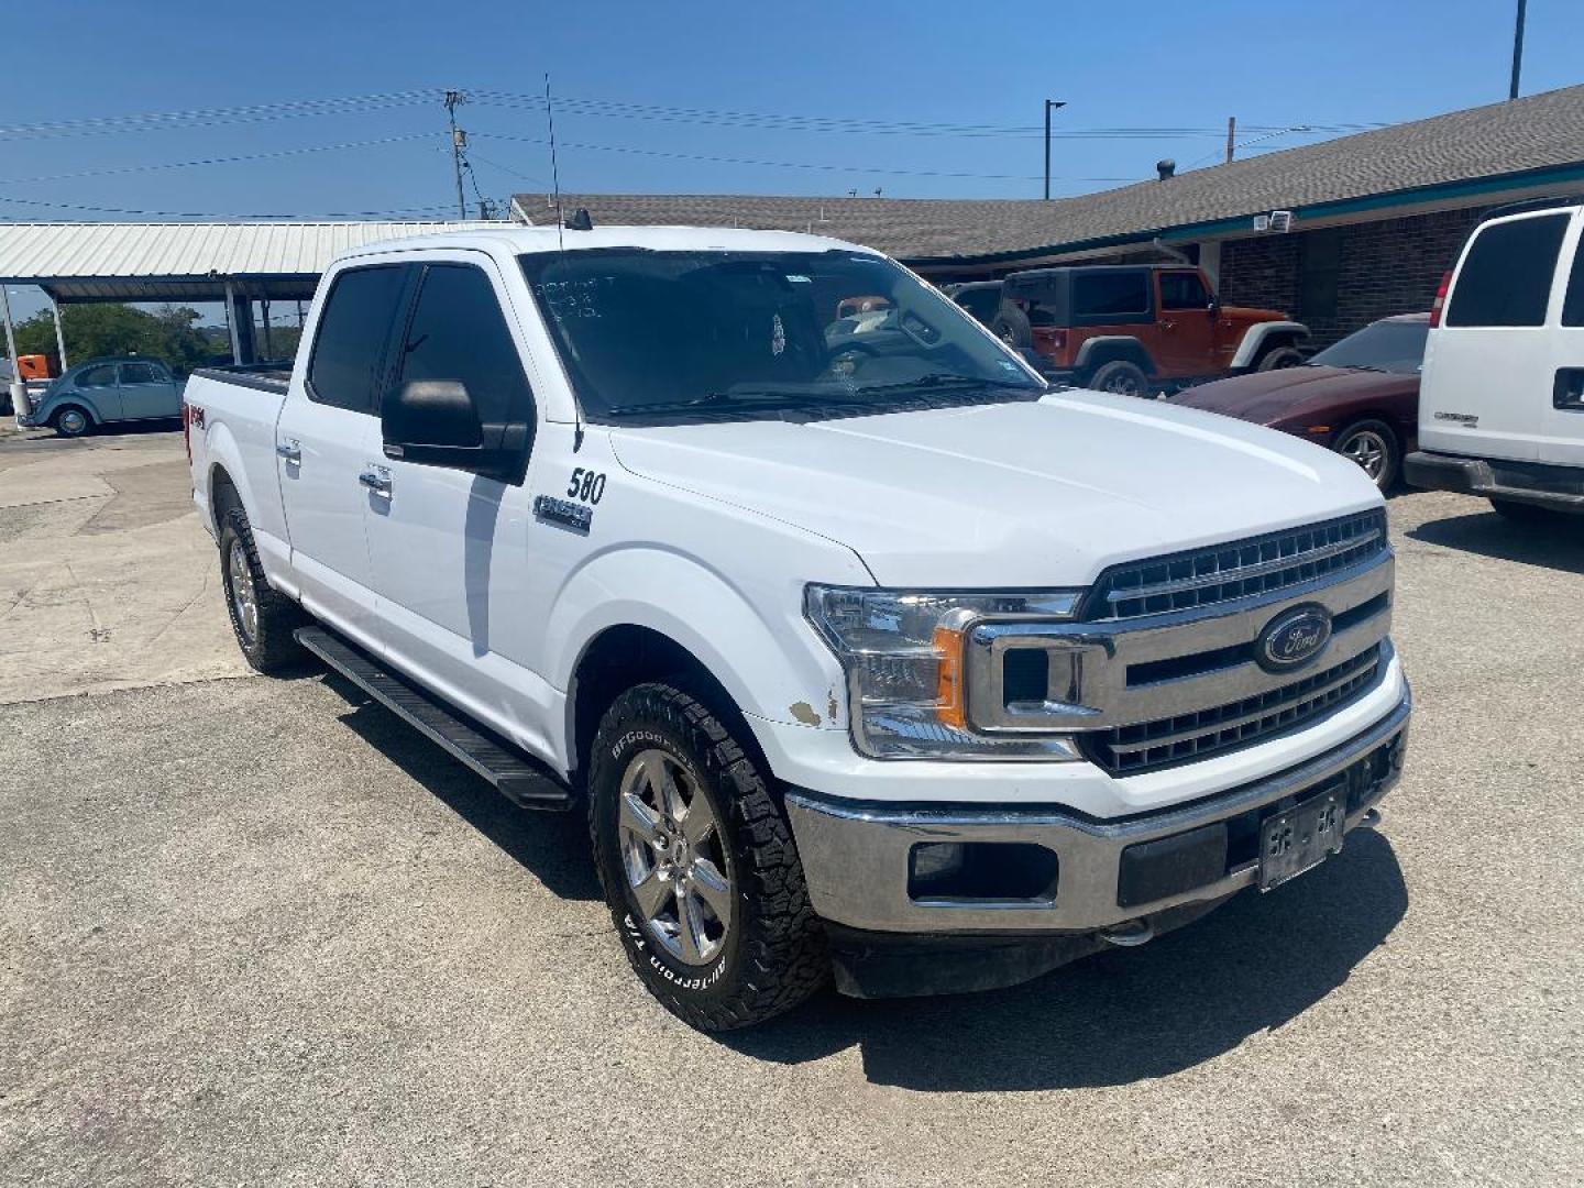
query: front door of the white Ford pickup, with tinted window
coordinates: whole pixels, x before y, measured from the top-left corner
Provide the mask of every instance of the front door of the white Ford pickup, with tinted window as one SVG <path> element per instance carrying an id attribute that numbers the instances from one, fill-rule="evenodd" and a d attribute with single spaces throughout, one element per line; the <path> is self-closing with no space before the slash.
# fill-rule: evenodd
<path id="1" fill-rule="evenodd" d="M 480 421 L 535 423 L 534 396 L 507 315 L 507 291 L 488 257 L 421 269 L 406 334 L 393 352 L 391 391 L 417 380 L 458 380 Z M 371 501 L 369 551 L 390 661 L 518 738 L 539 733 L 543 686 L 529 672 L 532 611 L 526 485 L 385 458 L 379 434 L 364 453 L 382 491 Z"/>

